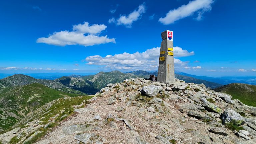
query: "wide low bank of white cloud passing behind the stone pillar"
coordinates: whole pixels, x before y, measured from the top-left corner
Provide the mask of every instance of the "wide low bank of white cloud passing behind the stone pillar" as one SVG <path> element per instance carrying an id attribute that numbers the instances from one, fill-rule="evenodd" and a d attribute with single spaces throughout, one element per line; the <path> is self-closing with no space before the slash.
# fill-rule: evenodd
<path id="1" fill-rule="evenodd" d="M 179 50 L 174 51 L 174 55 L 179 57 L 189 56 L 191 52 L 183 50 L 178 47 Z M 175 50 L 175 48 L 174 48 Z M 186 52 L 187 53 L 186 53 Z M 102 57 L 100 55 L 88 56 L 85 60 L 88 65 L 102 65 L 106 69 L 145 69 L 145 70 L 155 70 L 158 68 L 160 47 L 147 49 L 146 51 L 140 53 L 136 52 L 133 54 L 122 53 L 115 55 L 107 55 Z M 187 62 L 183 62 L 179 59 L 174 58 L 174 64 L 176 67 L 186 66 Z"/>

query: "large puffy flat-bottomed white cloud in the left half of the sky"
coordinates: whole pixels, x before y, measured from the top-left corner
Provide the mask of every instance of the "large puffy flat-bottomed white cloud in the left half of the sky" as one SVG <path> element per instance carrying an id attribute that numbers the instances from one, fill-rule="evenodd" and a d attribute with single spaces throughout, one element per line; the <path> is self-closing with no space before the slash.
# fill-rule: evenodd
<path id="1" fill-rule="evenodd" d="M 107 37 L 107 35 L 99 36 L 99 34 L 106 28 L 107 26 L 105 26 L 104 24 L 93 24 L 89 26 L 88 22 L 84 22 L 84 24 L 73 25 L 72 31 L 65 30 L 60 32 L 54 32 L 53 34 L 50 34 L 49 37 L 38 38 L 36 42 L 57 46 L 92 46 L 110 42 L 116 43 L 115 38 L 110 39 Z"/>

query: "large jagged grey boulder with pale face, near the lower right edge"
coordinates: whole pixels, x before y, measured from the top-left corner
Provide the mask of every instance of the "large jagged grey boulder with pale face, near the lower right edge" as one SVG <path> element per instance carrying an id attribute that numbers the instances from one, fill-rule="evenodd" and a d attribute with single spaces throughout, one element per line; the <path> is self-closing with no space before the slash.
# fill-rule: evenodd
<path id="1" fill-rule="evenodd" d="M 244 118 L 231 108 L 226 109 L 222 114 L 222 122 L 223 123 L 230 123 L 233 122 L 234 124 L 241 125 L 245 123 Z"/>

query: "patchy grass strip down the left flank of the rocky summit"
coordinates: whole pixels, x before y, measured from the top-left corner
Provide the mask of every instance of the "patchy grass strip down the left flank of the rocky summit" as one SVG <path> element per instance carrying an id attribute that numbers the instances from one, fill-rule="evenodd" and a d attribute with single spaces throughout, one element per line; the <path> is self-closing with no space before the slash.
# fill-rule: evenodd
<path id="1" fill-rule="evenodd" d="M 91 99 L 92 96 L 79 96 L 79 97 L 69 97 L 69 98 L 59 98 L 56 100 L 53 100 L 42 107 L 38 108 L 36 111 L 34 111 L 31 115 L 25 117 L 20 122 L 12 126 L 10 129 L 13 128 L 25 128 L 28 125 L 26 125 L 28 122 L 32 122 L 34 120 L 40 120 L 42 121 L 40 124 L 47 124 L 49 123 L 49 120 L 58 115 L 55 118 L 54 122 L 51 122 L 51 124 L 47 128 L 39 128 L 37 131 L 42 131 L 42 133 L 37 134 L 34 138 L 32 138 L 30 141 L 26 141 L 25 144 L 32 144 L 40 140 L 43 136 L 45 136 L 49 131 L 51 131 L 51 127 L 56 127 L 62 121 L 64 118 L 61 118 L 63 115 L 72 115 L 74 114 L 74 107 L 72 105 L 80 105 L 84 103 L 82 107 L 86 105 L 86 100 Z M 66 118 L 66 117 L 65 117 Z M 9 130 L 10 130 L 9 129 Z M 32 135 L 33 133 L 30 133 Z M 26 136 L 26 139 L 30 136 Z M 20 138 L 13 137 L 10 144 L 15 144 L 16 142 L 20 141 L 22 137 L 25 135 L 22 135 Z"/>

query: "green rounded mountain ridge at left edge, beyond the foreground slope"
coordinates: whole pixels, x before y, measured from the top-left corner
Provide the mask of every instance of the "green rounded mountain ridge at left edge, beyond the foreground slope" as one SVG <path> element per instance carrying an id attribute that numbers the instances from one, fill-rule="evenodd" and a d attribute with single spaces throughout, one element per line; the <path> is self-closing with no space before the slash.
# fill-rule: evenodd
<path id="1" fill-rule="evenodd" d="M 38 83 L 4 88 L 0 92 L 0 116 L 3 117 L 0 119 L 0 129 L 8 129 L 52 100 L 74 96 L 79 95 L 54 90 Z"/>

